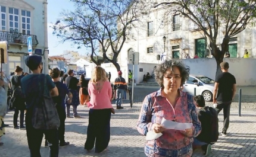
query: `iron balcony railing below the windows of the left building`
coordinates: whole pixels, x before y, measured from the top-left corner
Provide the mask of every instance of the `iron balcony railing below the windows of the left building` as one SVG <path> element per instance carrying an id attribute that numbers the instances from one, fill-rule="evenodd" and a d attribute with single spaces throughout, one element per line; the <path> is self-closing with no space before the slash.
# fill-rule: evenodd
<path id="1" fill-rule="evenodd" d="M 27 37 L 32 37 L 33 46 L 38 45 L 38 39 L 36 39 L 36 35 L 0 31 L 0 41 L 8 41 L 8 43 L 27 44 Z"/>

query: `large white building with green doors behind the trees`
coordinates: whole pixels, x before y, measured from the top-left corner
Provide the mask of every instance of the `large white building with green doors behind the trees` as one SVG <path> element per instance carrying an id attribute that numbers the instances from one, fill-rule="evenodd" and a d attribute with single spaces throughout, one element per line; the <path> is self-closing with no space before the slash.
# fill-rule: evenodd
<path id="1" fill-rule="evenodd" d="M 195 24 L 179 14 L 163 20 L 164 12 L 163 8 L 152 9 L 149 15 L 138 17 L 138 21 L 127 32 L 127 40 L 118 62 L 121 66 L 132 69 L 132 65 L 127 64 L 128 53 L 139 52 L 139 65 L 135 66 L 134 72 L 137 82 L 142 81 L 146 72 L 152 73 L 154 66 L 165 59 L 184 59 L 186 54 L 191 58 L 195 55 L 199 58 L 213 57 L 211 53 L 207 53 L 210 41 L 202 31 L 198 31 Z M 224 31 L 220 28 L 217 36 L 217 46 L 220 49 L 223 38 Z M 256 27 L 246 28 L 230 39 L 230 57 L 242 57 L 245 49 L 250 57 L 256 57 L 255 41 Z M 160 55 L 160 60 L 157 60 L 157 55 Z"/>

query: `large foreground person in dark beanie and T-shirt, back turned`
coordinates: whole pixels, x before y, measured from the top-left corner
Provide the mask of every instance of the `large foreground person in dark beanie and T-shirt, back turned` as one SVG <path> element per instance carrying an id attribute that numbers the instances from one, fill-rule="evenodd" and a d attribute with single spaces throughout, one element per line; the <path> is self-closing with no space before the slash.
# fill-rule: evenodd
<path id="1" fill-rule="evenodd" d="M 59 139 L 58 129 L 35 129 L 33 127 L 32 119 L 34 108 L 42 97 L 42 91 L 40 91 L 39 85 L 43 85 L 45 95 L 48 97 L 57 97 L 58 89 L 52 81 L 51 76 L 42 74 L 43 63 L 41 56 L 28 56 L 25 59 L 26 65 L 32 71 L 31 75 L 27 75 L 21 79 L 21 91 L 25 95 L 26 102 L 26 132 L 27 132 L 27 143 L 29 145 L 30 156 L 37 157 L 40 155 L 40 147 L 45 134 L 46 139 L 51 146 L 49 146 L 49 156 L 58 156 L 59 152 Z M 46 79 L 41 79 L 41 76 Z"/>

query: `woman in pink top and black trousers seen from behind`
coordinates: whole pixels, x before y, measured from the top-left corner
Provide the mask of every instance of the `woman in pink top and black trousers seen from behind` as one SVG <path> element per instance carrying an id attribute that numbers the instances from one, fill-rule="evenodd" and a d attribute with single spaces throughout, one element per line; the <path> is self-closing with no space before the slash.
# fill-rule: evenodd
<path id="1" fill-rule="evenodd" d="M 112 88 L 106 72 L 101 66 L 96 66 L 93 69 L 88 92 L 90 102 L 87 104 L 90 110 L 85 149 L 92 150 L 95 143 L 95 152 L 100 153 L 107 148 L 110 142 L 110 118 L 111 110 L 113 110 Z"/>

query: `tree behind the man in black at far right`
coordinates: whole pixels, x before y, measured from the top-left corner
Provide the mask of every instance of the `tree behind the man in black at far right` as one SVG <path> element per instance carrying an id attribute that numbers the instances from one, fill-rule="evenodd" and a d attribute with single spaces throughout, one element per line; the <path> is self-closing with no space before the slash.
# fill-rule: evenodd
<path id="1" fill-rule="evenodd" d="M 220 73 L 220 63 L 229 50 L 229 39 L 246 27 L 256 16 L 255 0 L 162 0 L 157 3 L 149 0 L 151 8 L 165 8 L 166 15 L 180 14 L 192 23 L 198 25 L 198 30 L 204 32 L 210 40 L 211 54 L 216 59 L 217 71 Z M 217 49 L 217 36 L 223 31 L 224 39 L 221 50 Z"/>

